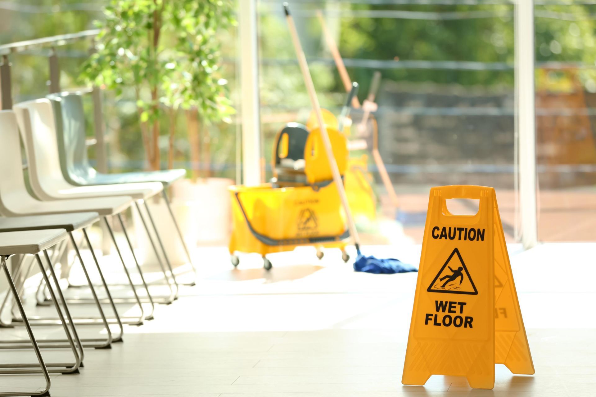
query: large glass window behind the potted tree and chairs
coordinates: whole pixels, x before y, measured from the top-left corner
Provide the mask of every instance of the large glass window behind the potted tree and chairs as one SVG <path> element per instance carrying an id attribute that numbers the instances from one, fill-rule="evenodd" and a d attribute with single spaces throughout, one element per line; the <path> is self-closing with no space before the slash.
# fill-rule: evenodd
<path id="1" fill-rule="evenodd" d="M 48 2 L 45 2 L 48 3 Z M 0 9 L 0 43 L 7 44 L 23 40 L 72 34 L 94 29 L 94 20 L 103 20 L 103 4 L 24 5 Z M 167 32 L 165 33 L 167 35 Z M 222 32 L 221 41 L 224 65 L 221 77 L 227 81 L 228 95 L 233 106 L 238 107 L 238 45 L 237 29 Z M 11 63 L 11 85 L 13 103 L 43 98 L 48 94 L 48 57 L 54 51 L 60 67 L 60 88 L 62 90 L 88 89 L 79 79 L 80 65 L 92 49 L 92 36 L 58 45 L 53 50 L 49 46 L 39 46 L 8 56 Z M 107 169 L 111 172 L 142 170 L 147 167 L 146 155 L 141 144 L 141 129 L 135 105 L 132 85 L 123 89 L 122 95 L 111 90 L 102 90 L 104 135 L 107 153 Z M 84 95 L 86 131 L 89 138 L 95 135 L 91 94 Z M 232 122 L 207 123 L 200 120 L 198 136 L 193 140 L 188 134 L 188 120 L 180 110 L 176 118 L 176 132 L 173 142 L 173 167 L 187 168 L 188 177 L 225 177 L 236 180 L 240 170 L 240 130 L 238 118 Z M 169 152 L 170 120 L 164 116 L 160 120 L 160 152 L 162 168 L 167 167 Z M 88 154 L 95 164 L 96 153 L 92 139 L 89 140 Z"/>

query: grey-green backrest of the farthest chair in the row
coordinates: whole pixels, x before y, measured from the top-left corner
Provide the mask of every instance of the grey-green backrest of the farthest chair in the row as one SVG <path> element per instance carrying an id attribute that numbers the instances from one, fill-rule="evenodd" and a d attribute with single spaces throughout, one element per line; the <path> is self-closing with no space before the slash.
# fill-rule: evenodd
<path id="1" fill-rule="evenodd" d="M 85 185 L 97 173 L 87 158 L 83 92 L 60 92 L 46 96 L 54 108 L 60 168 L 64 179 Z"/>

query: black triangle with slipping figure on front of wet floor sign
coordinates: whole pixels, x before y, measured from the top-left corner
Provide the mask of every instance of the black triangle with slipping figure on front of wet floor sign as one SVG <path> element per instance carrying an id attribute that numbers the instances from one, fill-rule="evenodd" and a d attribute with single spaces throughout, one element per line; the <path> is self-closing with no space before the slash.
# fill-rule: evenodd
<path id="1" fill-rule="evenodd" d="M 453 260 L 454 255 L 460 260 Z M 465 295 L 478 295 L 478 290 L 470 277 L 468 268 L 461 257 L 460 250 L 455 248 L 445 264 L 440 268 L 439 273 L 434 276 L 433 282 L 426 289 L 427 292 L 462 293 Z"/>

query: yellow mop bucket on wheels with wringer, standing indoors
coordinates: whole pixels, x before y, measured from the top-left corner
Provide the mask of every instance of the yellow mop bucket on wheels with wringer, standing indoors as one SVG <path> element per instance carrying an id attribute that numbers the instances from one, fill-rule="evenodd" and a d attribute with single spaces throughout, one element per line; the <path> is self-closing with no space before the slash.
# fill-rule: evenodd
<path id="1" fill-rule="evenodd" d="M 339 157 L 340 173 L 347 162 L 346 138 L 331 130 L 334 155 Z M 278 135 L 278 142 L 284 136 Z M 276 145 L 277 146 L 277 145 Z M 281 151 L 287 153 L 287 151 Z M 263 257 L 263 267 L 271 268 L 265 257 L 272 252 L 291 251 L 300 245 L 320 248 L 340 248 L 342 259 L 349 237 L 346 217 L 337 186 L 330 177 L 327 158 L 322 150 L 318 129 L 308 135 L 304 149 L 305 185 L 276 187 L 272 183 L 259 186 L 231 186 L 233 230 L 229 243 L 232 264 L 240 262 L 236 252 L 257 252 Z"/>

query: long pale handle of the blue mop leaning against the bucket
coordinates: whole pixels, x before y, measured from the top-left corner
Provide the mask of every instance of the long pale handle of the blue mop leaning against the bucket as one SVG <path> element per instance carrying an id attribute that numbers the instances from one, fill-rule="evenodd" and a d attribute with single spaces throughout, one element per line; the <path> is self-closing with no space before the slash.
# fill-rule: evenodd
<path id="1" fill-rule="evenodd" d="M 343 187 L 342 176 L 339 173 L 339 168 L 337 168 L 337 162 L 335 160 L 335 157 L 333 156 L 331 140 L 329 139 L 329 135 L 327 134 L 327 127 L 325 127 L 323 114 L 321 112 L 321 105 L 319 105 L 319 99 L 316 97 L 315 85 L 312 82 L 311 72 L 308 69 L 308 63 L 306 62 L 306 57 L 304 55 L 304 51 L 302 50 L 302 45 L 300 45 L 300 39 L 298 38 L 296 25 L 294 25 L 294 20 L 290 15 L 290 7 L 288 7 L 287 3 L 284 3 L 284 11 L 285 18 L 288 21 L 288 27 L 290 27 L 290 35 L 292 36 L 292 42 L 294 43 L 294 49 L 296 50 L 296 57 L 298 58 L 300 71 L 302 71 L 302 76 L 306 84 L 306 90 L 308 91 L 308 96 L 311 98 L 311 104 L 313 109 L 315 110 L 316 118 L 319 121 L 321 136 L 323 138 L 323 146 L 325 146 L 325 152 L 327 152 L 327 159 L 331 168 L 331 174 L 333 175 L 333 182 L 335 182 L 337 186 L 337 192 L 339 192 L 339 198 L 340 201 L 342 201 L 343 210 L 346 212 L 347 227 L 350 230 L 350 236 L 352 237 L 352 241 L 356 246 L 356 251 L 358 251 L 359 254 L 360 240 L 358 238 L 358 232 L 356 231 L 356 224 L 354 223 L 354 218 L 352 217 L 352 211 L 350 211 L 350 206 L 347 203 L 346 190 Z"/>

